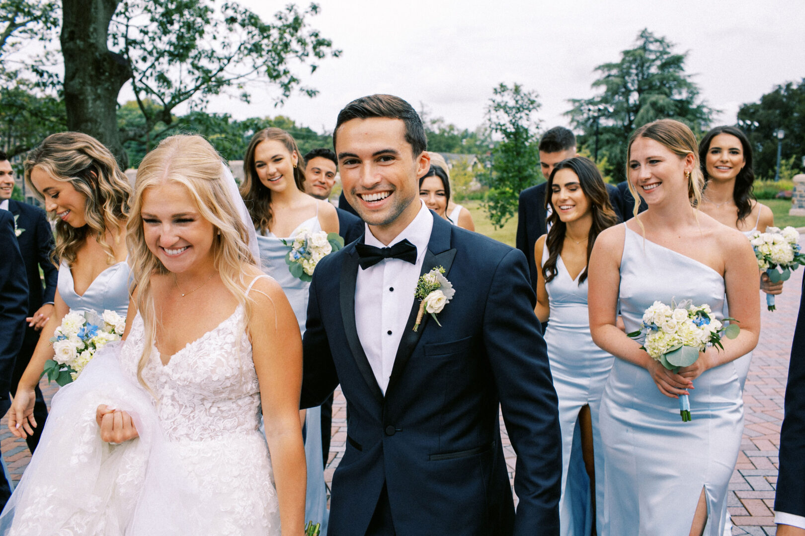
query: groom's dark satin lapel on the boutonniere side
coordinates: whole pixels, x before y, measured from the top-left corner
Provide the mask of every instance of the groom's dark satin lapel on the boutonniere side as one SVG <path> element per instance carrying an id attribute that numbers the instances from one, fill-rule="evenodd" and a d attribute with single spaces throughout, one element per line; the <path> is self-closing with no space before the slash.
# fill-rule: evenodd
<path id="1" fill-rule="evenodd" d="M 431 211 L 432 213 L 432 211 Z M 431 231 L 431 239 L 427 244 L 427 252 L 425 252 L 425 259 L 422 263 L 422 270 L 419 276 L 423 276 L 430 272 L 433 268 L 441 266 L 444 268 L 444 274 L 447 276 L 450 273 L 453 259 L 456 258 L 456 250 L 450 248 L 450 231 L 452 225 L 444 221 L 436 214 L 433 217 L 433 231 Z M 438 253 L 434 253 L 438 252 Z M 449 304 L 447 305 L 450 306 Z M 414 324 L 416 323 L 416 315 L 419 313 L 419 299 L 414 300 L 414 305 L 411 305 L 411 313 L 408 315 L 406 322 L 405 333 L 403 338 L 400 339 L 400 345 L 397 347 L 397 354 L 394 356 L 394 367 L 391 369 L 391 377 L 389 378 L 389 386 L 386 387 L 386 395 L 397 383 L 408 360 L 411 359 L 411 354 L 414 352 L 419 338 L 422 333 L 427 329 L 429 321 L 432 321 L 431 315 L 425 313 L 422 317 L 422 322 L 419 323 L 419 328 L 414 331 Z M 435 322 L 435 329 L 440 329 L 439 325 Z"/>

